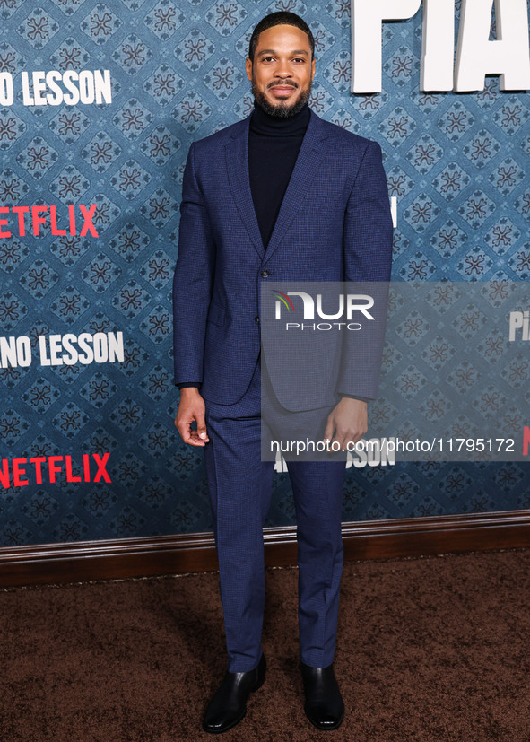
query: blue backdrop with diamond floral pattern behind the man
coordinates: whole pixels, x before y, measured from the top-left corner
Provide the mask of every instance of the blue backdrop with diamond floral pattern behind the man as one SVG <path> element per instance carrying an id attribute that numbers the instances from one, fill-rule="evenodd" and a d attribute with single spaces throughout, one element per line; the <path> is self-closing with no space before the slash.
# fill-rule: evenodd
<path id="1" fill-rule="evenodd" d="M 71 455 L 79 474 L 83 453 L 109 451 L 111 478 L 68 483 L 61 473 L 36 484 L 28 468 L 30 484 L 0 487 L 1 545 L 211 528 L 201 452 L 173 426 L 178 205 L 189 144 L 251 109 L 244 61 L 265 13 L 308 20 L 312 107 L 383 147 L 398 201 L 395 280 L 527 280 L 528 92 L 500 92 L 489 77 L 478 93 L 421 93 L 420 12 L 384 25 L 383 92 L 354 96 L 349 5 L 0 0 L 0 71 L 15 92 L 0 109 L 0 204 L 56 205 L 63 221 L 67 205 L 97 204 L 99 234 L 56 236 L 47 223 L 39 236 L 28 228 L 0 239 L 0 335 L 30 336 L 34 348 L 38 336 L 69 332 L 125 340 L 124 362 L 0 369 L 0 458 Z M 108 69 L 111 103 L 24 105 L 22 71 L 69 69 Z M 343 517 L 525 507 L 526 464 L 396 464 L 350 470 Z M 288 477 L 278 474 L 269 524 L 292 522 Z"/>

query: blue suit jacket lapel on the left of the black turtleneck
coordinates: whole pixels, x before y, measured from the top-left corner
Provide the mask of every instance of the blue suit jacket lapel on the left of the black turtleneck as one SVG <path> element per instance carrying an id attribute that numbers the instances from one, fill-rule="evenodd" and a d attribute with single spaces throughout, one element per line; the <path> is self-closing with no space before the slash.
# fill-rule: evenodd
<path id="1" fill-rule="evenodd" d="M 261 259 L 265 255 L 265 248 L 261 239 L 261 232 L 256 218 L 256 209 L 250 191 L 248 177 L 248 127 L 250 117 L 241 122 L 241 127 L 232 134 L 230 143 L 226 145 L 226 167 L 230 190 L 239 215 L 248 231 L 248 236 Z"/>

